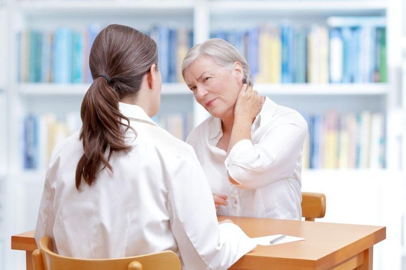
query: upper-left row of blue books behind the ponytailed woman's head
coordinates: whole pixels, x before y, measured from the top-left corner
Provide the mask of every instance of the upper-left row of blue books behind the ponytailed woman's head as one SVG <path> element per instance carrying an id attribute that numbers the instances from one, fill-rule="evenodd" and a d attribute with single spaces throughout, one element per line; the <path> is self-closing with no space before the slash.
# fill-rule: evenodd
<path id="1" fill-rule="evenodd" d="M 24 29 L 17 33 L 19 82 L 91 83 L 89 53 L 98 24 L 85 30 L 59 27 L 54 31 Z M 183 81 L 180 66 L 191 47 L 192 33 L 187 29 L 153 27 L 149 32 L 158 45 L 162 82 Z"/>

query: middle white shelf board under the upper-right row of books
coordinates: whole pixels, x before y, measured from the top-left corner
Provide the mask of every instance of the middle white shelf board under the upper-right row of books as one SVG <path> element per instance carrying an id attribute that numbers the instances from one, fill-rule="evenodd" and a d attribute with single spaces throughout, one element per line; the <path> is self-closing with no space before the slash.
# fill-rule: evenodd
<path id="1" fill-rule="evenodd" d="M 385 83 L 367 84 L 254 84 L 264 95 L 386 95 Z"/>

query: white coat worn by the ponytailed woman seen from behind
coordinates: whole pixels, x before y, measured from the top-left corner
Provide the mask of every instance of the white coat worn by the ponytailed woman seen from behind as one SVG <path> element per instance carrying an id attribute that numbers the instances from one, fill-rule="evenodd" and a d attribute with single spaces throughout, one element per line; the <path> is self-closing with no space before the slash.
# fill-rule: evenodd
<path id="1" fill-rule="evenodd" d="M 38 215 L 37 243 L 57 252 L 119 258 L 172 250 L 184 269 L 225 269 L 256 244 L 235 224 L 218 224 L 205 174 L 186 143 L 158 127 L 138 106 L 119 104 L 130 119 L 128 153 L 110 159 L 92 186 L 75 187 L 83 154 L 79 131 L 52 152 Z"/>

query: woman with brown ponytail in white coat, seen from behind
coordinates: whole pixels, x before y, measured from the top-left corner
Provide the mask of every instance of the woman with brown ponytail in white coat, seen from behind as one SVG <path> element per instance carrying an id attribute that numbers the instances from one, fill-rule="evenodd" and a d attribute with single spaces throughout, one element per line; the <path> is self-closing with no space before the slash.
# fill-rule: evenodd
<path id="1" fill-rule="evenodd" d="M 184 269 L 225 269 L 252 250 L 240 227 L 218 224 L 192 147 L 150 118 L 162 84 L 156 43 L 112 24 L 97 35 L 89 64 L 83 125 L 52 152 L 37 243 L 48 235 L 59 254 L 77 258 L 172 250 Z"/>

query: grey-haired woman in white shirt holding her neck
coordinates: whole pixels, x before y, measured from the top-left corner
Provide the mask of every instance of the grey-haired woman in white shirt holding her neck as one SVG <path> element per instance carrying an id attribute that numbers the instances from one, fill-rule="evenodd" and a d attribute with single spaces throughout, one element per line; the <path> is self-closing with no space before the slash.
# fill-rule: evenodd
<path id="1" fill-rule="evenodd" d="M 191 131 L 218 215 L 301 218 L 301 157 L 307 123 L 252 90 L 247 61 L 231 44 L 195 45 L 182 75 L 211 116 Z"/>

